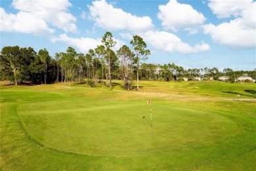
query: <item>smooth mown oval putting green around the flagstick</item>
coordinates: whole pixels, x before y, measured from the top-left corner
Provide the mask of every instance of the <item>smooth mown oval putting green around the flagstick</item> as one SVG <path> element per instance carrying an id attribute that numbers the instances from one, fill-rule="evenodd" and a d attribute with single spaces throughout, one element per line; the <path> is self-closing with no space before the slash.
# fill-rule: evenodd
<path id="1" fill-rule="evenodd" d="M 20 104 L 28 134 L 45 146 L 87 155 L 171 153 L 234 134 L 236 122 L 214 112 L 152 104 L 76 99 Z M 145 116 L 145 119 L 142 117 Z"/>

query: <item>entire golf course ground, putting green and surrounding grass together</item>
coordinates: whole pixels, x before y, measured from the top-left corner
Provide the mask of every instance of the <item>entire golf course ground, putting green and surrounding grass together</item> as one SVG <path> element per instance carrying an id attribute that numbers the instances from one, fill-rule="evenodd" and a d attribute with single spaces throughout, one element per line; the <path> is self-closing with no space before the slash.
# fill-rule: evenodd
<path id="1" fill-rule="evenodd" d="M 256 84 L 112 84 L 1 83 L 0 170 L 256 170 Z"/>

